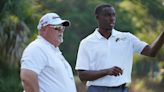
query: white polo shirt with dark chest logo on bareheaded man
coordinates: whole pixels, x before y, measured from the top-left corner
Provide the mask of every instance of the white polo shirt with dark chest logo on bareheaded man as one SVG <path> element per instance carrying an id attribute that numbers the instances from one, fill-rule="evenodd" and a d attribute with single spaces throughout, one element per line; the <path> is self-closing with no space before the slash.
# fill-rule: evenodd
<path id="1" fill-rule="evenodd" d="M 104 38 L 98 29 L 80 43 L 76 70 L 101 70 L 118 66 L 123 70 L 121 76 L 104 76 L 87 85 L 119 86 L 131 82 L 133 53 L 141 53 L 147 43 L 127 32 L 112 30 L 109 39 Z"/>

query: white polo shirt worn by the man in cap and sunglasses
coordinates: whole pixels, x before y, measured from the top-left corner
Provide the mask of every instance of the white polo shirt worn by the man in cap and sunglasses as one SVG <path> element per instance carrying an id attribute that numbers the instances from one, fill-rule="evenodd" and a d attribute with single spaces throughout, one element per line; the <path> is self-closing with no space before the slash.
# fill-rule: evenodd
<path id="1" fill-rule="evenodd" d="M 39 92 L 76 92 L 69 63 L 59 48 L 41 36 L 23 52 L 21 69 L 29 69 L 38 74 Z"/>

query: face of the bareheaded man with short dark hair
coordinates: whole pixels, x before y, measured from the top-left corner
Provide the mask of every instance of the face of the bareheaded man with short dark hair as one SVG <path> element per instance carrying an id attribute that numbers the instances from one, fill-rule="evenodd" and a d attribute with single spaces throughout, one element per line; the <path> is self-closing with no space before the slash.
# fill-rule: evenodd
<path id="1" fill-rule="evenodd" d="M 115 10 L 113 7 L 103 8 L 101 13 L 97 15 L 97 20 L 99 23 L 99 28 L 104 30 L 112 30 L 115 25 Z"/>

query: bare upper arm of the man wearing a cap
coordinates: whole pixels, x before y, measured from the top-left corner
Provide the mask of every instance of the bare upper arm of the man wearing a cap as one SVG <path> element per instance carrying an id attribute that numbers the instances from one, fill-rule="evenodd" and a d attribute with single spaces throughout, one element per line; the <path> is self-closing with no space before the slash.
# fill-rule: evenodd
<path id="1" fill-rule="evenodd" d="M 25 92 L 39 92 L 38 75 L 28 69 L 21 69 L 20 78 Z"/>

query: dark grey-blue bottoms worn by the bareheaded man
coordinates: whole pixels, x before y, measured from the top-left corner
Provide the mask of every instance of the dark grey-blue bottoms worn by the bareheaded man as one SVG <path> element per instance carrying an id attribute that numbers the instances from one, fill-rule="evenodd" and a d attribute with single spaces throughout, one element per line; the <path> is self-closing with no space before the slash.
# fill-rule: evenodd
<path id="1" fill-rule="evenodd" d="M 87 92 L 128 92 L 128 87 L 105 87 L 105 86 L 89 86 Z"/>

